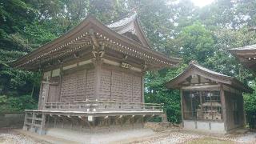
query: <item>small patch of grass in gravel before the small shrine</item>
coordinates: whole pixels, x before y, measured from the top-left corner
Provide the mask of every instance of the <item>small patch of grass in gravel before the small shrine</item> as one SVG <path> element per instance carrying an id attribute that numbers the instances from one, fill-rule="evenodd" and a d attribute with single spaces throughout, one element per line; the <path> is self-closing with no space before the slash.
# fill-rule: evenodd
<path id="1" fill-rule="evenodd" d="M 234 144 L 232 141 L 222 140 L 218 138 L 197 138 L 191 140 L 189 142 L 185 142 L 186 144 Z"/>

